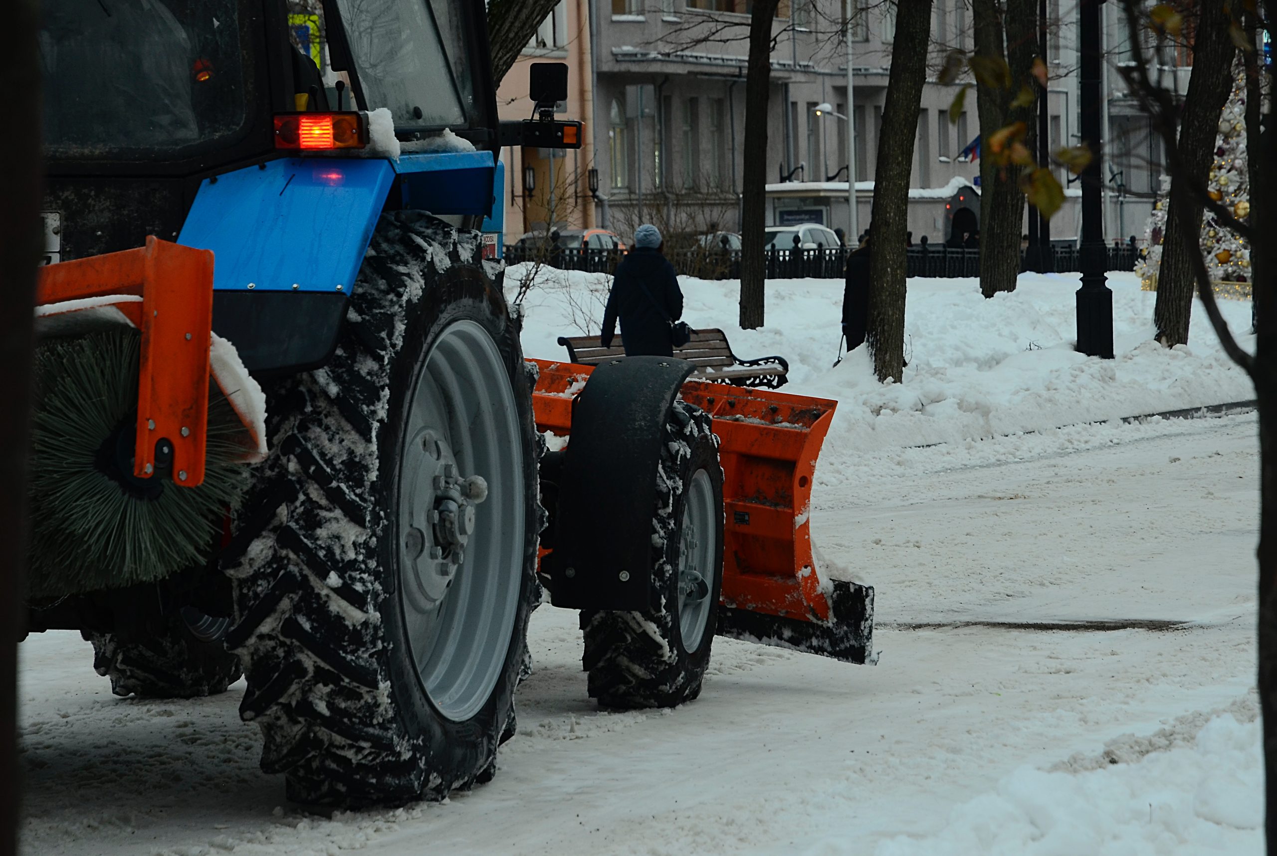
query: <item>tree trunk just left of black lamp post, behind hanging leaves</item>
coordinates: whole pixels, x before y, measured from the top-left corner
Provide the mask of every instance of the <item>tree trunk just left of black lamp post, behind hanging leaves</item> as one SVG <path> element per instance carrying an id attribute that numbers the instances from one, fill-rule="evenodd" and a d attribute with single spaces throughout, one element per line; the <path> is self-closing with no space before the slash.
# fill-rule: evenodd
<path id="1" fill-rule="evenodd" d="M 997 129 L 1023 121 L 1034 126 L 1034 105 L 1011 107 L 1011 98 L 1022 83 L 1031 80 L 1037 54 L 1036 0 L 1006 0 L 1005 50 L 1004 15 L 996 0 L 974 0 L 976 55 L 1005 60 L 1011 70 L 1011 88 L 976 85 L 979 110 L 981 139 L 987 140 Z M 1041 94 L 1038 96 L 1041 97 Z M 1031 135 L 1032 137 L 1032 135 Z M 987 149 L 986 149 L 987 151 Z M 1032 149 L 1031 149 L 1032 151 Z M 1019 186 L 1020 170 L 1015 165 L 997 166 L 992 158 L 979 162 L 979 290 L 986 297 L 1000 291 L 1015 291 L 1020 273 L 1020 233 L 1024 227 L 1024 193 Z"/>

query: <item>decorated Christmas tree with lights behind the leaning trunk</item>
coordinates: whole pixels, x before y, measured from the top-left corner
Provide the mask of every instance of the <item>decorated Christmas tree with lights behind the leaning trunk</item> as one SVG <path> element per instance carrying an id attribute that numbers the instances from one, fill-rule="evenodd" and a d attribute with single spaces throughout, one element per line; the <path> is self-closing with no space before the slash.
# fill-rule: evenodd
<path id="1" fill-rule="evenodd" d="M 1220 115 L 1214 161 L 1207 176 L 1211 199 L 1222 203 L 1237 219 L 1250 214 L 1250 179 L 1246 170 L 1246 78 L 1237 63 L 1232 93 Z M 1137 272 L 1145 290 L 1157 288 L 1157 270 L 1162 259 L 1162 237 L 1166 230 L 1166 207 L 1170 179 L 1163 177 L 1153 213 L 1145 225 L 1145 247 Z M 1235 297 L 1250 296 L 1250 250 L 1245 240 L 1221 226 L 1213 212 L 1202 214 L 1202 258 L 1218 293 Z"/>

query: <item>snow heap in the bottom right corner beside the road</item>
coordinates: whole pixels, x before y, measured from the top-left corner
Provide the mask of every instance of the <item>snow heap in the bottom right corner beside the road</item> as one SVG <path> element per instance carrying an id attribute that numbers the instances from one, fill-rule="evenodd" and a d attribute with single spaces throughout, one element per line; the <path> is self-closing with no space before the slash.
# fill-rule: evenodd
<path id="1" fill-rule="evenodd" d="M 876 856 L 1259 853 L 1264 823 L 1259 722 L 1213 718 L 1191 746 L 1078 774 L 1020 767 L 956 806 L 927 838 L 884 841 Z M 825 841 L 813 853 L 862 852 Z"/>

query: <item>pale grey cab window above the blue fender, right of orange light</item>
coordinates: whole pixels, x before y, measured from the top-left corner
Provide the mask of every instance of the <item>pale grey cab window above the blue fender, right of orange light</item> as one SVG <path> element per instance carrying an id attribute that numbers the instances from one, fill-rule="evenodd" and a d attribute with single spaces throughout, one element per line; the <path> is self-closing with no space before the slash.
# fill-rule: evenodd
<path id="1" fill-rule="evenodd" d="M 465 126 L 474 88 L 455 0 L 337 0 L 369 110 L 397 128 Z"/>

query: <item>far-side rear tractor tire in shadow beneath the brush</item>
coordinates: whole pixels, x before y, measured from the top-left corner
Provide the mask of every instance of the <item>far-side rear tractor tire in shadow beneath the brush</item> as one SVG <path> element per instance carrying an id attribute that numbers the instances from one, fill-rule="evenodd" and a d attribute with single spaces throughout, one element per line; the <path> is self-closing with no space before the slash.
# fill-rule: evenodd
<path id="1" fill-rule="evenodd" d="M 193 621 L 188 624 L 183 614 Z M 93 668 L 111 679 L 116 695 L 186 699 L 225 693 L 240 679 L 239 657 L 220 638 L 223 621 L 188 607 L 170 616 L 158 634 L 121 639 L 82 630 L 80 635 L 93 644 Z"/>

